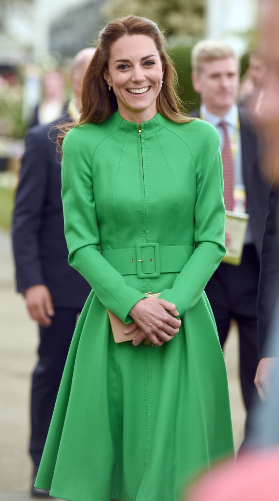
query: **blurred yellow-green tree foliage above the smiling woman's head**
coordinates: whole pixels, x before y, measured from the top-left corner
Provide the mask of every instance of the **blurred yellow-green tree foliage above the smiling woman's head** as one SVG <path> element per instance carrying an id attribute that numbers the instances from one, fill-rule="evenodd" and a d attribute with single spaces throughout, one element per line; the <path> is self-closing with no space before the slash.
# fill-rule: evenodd
<path id="1" fill-rule="evenodd" d="M 155 21 L 167 36 L 199 36 L 204 29 L 204 0 L 108 0 L 101 11 L 112 20 L 134 14 Z"/>

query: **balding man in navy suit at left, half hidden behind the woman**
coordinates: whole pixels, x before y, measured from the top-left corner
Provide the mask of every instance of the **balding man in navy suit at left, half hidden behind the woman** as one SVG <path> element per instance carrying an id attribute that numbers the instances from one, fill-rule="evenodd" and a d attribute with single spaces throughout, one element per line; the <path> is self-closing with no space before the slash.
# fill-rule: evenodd
<path id="1" fill-rule="evenodd" d="M 76 119 L 82 80 L 94 49 L 77 54 L 71 70 L 74 98 L 62 122 Z M 58 121 L 31 128 L 25 138 L 15 196 L 12 242 L 17 291 L 39 324 L 38 361 L 32 375 L 30 455 L 33 480 L 42 455 L 77 314 L 89 285 L 67 263 L 61 202 L 61 172 L 56 152 Z M 31 487 L 33 496 L 47 491 Z"/>

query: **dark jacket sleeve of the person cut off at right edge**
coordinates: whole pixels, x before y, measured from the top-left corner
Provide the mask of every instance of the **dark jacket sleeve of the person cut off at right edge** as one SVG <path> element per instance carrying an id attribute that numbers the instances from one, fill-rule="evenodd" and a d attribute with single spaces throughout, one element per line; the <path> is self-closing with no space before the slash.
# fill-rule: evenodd
<path id="1" fill-rule="evenodd" d="M 270 320 L 279 298 L 279 193 L 271 187 L 264 226 L 257 295 L 257 337 L 259 358 L 274 357 L 271 347 L 265 346 Z M 269 352 L 267 351 L 269 350 Z"/>

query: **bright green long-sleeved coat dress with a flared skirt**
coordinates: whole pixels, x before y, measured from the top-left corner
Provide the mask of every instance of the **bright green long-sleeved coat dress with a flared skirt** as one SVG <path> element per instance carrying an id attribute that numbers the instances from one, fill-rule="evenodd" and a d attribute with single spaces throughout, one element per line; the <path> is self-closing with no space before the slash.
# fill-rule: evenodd
<path id="1" fill-rule="evenodd" d="M 177 501 L 192 476 L 233 453 L 224 360 L 204 287 L 225 252 L 215 129 L 115 112 L 63 142 L 69 264 L 89 282 L 36 487 L 70 501 Z M 160 292 L 180 331 L 161 347 L 113 341 Z"/>

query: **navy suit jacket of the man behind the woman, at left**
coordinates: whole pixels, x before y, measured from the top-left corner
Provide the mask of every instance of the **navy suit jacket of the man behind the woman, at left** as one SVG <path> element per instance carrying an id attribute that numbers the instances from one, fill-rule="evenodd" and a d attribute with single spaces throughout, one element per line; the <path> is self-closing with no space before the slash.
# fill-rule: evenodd
<path id="1" fill-rule="evenodd" d="M 33 127 L 25 138 L 12 222 L 16 285 L 23 291 L 45 284 L 54 306 L 81 309 L 90 287 L 67 263 L 57 130 L 51 129 L 57 123 Z"/>

